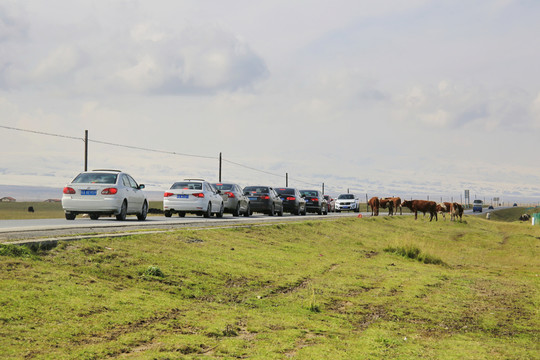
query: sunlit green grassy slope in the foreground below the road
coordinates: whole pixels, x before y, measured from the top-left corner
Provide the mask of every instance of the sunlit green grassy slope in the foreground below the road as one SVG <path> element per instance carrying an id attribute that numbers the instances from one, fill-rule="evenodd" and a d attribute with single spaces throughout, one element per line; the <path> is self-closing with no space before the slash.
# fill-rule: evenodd
<path id="1" fill-rule="evenodd" d="M 539 244 L 520 223 L 349 218 L 0 256 L 0 358 L 539 358 Z M 404 246 L 446 265 L 384 251 Z"/>

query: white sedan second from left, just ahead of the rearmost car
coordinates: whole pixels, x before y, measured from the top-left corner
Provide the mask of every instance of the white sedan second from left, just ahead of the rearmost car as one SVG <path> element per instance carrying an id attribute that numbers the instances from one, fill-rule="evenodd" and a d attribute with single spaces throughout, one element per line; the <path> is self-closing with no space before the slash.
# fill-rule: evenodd
<path id="1" fill-rule="evenodd" d="M 184 179 L 171 185 L 163 194 L 163 213 L 171 217 L 187 213 L 209 218 L 213 214 L 223 217 L 225 210 L 220 191 L 204 179 Z"/>

